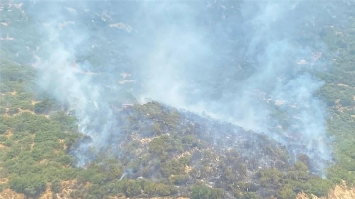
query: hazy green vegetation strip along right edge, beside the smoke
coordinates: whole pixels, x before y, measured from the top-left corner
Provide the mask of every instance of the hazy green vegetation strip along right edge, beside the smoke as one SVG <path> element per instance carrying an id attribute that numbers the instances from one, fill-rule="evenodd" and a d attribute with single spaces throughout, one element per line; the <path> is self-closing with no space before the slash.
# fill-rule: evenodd
<path id="1" fill-rule="evenodd" d="M 355 21 L 352 27 L 339 28 L 341 34 L 325 28 L 323 40 L 341 56 L 333 60 L 331 73 L 318 74 L 326 82 L 318 92 L 328 104 L 328 133 L 335 138 L 337 164 L 329 169 L 328 176 L 344 179 L 349 186 L 355 184 Z"/>

